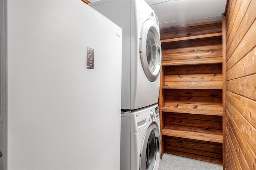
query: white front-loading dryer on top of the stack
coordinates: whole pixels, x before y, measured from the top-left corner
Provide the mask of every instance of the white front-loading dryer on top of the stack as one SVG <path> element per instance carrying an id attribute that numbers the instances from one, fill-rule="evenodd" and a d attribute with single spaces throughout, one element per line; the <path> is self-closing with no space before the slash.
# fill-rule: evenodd
<path id="1" fill-rule="evenodd" d="M 162 55 L 154 11 L 144 0 L 100 0 L 88 5 L 122 28 L 121 108 L 134 110 L 156 103 Z"/>

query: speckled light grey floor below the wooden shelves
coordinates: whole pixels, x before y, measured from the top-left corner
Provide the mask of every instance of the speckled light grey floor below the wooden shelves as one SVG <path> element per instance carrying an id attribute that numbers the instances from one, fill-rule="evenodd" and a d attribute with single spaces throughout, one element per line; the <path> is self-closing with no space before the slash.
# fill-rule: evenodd
<path id="1" fill-rule="evenodd" d="M 222 165 L 164 153 L 158 170 L 222 170 Z"/>

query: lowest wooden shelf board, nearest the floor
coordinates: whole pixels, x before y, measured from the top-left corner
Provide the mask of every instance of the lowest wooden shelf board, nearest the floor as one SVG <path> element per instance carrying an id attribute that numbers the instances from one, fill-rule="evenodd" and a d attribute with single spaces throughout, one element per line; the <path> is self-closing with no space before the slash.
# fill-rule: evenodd
<path id="1" fill-rule="evenodd" d="M 189 130 L 180 130 L 180 129 L 177 130 L 177 127 L 174 126 L 174 128 L 164 128 L 162 130 L 162 135 L 222 143 L 223 141 L 222 133 L 219 133 L 219 134 L 210 133 L 210 132 L 206 133 L 201 131 L 202 130 L 198 130 L 198 131 L 192 131 L 192 130 L 189 131 Z"/>

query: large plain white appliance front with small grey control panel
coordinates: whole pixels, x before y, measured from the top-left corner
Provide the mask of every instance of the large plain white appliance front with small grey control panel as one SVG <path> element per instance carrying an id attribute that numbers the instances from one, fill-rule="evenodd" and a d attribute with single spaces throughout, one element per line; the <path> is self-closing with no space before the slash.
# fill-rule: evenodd
<path id="1" fill-rule="evenodd" d="M 81 1 L 8 1 L 8 169 L 120 169 L 121 49 Z"/>

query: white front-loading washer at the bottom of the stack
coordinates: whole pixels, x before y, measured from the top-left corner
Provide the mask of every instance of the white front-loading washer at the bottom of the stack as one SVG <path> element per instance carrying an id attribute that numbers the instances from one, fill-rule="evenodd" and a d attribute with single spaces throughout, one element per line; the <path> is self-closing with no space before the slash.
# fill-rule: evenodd
<path id="1" fill-rule="evenodd" d="M 121 170 L 158 170 L 160 119 L 158 105 L 121 114 Z"/>

